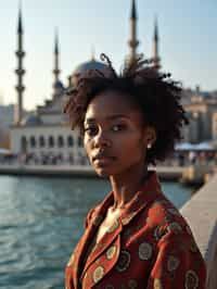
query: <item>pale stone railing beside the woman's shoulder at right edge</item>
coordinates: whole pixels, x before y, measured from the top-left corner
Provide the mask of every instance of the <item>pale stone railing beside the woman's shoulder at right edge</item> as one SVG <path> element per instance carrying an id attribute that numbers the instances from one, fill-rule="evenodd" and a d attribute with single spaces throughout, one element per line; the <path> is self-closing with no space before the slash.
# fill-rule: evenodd
<path id="1" fill-rule="evenodd" d="M 207 266 L 206 289 L 217 288 L 217 175 L 180 210 L 192 228 Z"/>

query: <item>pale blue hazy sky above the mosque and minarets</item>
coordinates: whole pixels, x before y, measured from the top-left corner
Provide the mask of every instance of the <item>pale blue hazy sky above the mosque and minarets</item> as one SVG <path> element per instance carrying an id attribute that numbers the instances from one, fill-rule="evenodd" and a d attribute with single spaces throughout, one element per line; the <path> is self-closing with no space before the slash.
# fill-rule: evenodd
<path id="1" fill-rule="evenodd" d="M 217 90 L 217 1 L 136 0 L 138 52 L 151 56 L 154 18 L 159 33 L 162 70 L 183 87 Z M 0 1 L 0 102 L 16 102 L 18 0 Z M 76 66 L 106 53 L 119 71 L 129 53 L 131 0 L 23 0 L 24 108 L 51 99 L 54 33 L 60 39 L 61 80 Z"/>

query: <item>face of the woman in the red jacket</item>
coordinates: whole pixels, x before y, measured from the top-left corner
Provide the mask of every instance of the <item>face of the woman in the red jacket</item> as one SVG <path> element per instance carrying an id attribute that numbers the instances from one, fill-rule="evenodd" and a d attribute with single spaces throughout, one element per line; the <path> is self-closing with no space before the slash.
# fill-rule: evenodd
<path id="1" fill-rule="evenodd" d="M 100 176 L 123 175 L 144 166 L 148 134 L 139 108 L 115 90 L 103 91 L 88 105 L 84 144 Z"/>

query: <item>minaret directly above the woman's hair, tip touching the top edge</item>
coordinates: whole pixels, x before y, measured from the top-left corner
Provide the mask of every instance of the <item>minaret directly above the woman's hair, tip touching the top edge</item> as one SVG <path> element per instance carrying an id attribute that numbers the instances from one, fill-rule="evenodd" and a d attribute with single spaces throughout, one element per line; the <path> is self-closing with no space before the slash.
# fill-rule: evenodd
<path id="1" fill-rule="evenodd" d="M 131 16 L 130 16 L 130 39 L 128 41 L 130 47 L 129 62 L 133 61 L 137 56 L 137 47 L 139 41 L 137 39 L 137 10 L 136 0 L 132 0 Z"/>

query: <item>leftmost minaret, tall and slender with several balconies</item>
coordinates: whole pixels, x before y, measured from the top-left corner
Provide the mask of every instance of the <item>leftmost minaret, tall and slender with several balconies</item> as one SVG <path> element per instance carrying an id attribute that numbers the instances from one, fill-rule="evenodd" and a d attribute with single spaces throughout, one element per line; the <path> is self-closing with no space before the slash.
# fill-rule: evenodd
<path id="1" fill-rule="evenodd" d="M 17 75 L 17 106 L 16 111 L 14 113 L 14 122 L 15 124 L 20 124 L 21 120 L 23 117 L 23 92 L 25 90 L 25 86 L 23 85 L 23 76 L 25 74 L 25 70 L 23 68 L 23 59 L 25 56 L 25 52 L 23 50 L 23 25 L 22 25 L 22 11 L 20 7 L 18 11 L 18 25 L 17 25 L 17 51 L 15 52 L 15 55 L 17 56 L 17 70 L 15 70 L 15 73 Z"/>

